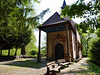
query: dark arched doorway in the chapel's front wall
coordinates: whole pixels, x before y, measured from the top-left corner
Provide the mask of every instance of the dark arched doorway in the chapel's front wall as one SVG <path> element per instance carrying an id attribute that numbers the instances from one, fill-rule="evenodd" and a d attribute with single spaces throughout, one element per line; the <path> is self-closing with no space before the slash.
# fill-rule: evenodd
<path id="1" fill-rule="evenodd" d="M 55 46 L 55 59 L 64 59 L 64 49 L 60 43 Z"/>

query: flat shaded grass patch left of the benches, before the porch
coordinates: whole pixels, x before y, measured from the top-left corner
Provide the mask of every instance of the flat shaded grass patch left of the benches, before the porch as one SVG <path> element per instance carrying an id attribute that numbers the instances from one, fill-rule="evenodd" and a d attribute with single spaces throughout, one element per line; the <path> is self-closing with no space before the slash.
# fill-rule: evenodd
<path id="1" fill-rule="evenodd" d="M 4 65 L 10 65 L 10 66 L 18 66 L 18 67 L 28 67 L 28 68 L 41 68 L 45 66 L 44 62 L 36 62 L 33 60 L 17 60 L 17 61 L 13 61 L 10 63 L 6 63 Z"/>

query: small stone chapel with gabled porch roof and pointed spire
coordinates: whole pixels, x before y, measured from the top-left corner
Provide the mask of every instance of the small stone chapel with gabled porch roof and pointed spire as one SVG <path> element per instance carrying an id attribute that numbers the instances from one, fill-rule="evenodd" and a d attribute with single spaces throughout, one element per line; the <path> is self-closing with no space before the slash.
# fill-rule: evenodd
<path id="1" fill-rule="evenodd" d="M 64 0 L 62 9 L 66 6 Z M 47 34 L 47 59 L 66 61 L 76 61 L 82 58 L 82 45 L 80 35 L 75 26 L 75 22 L 69 17 L 61 18 L 55 12 L 39 28 L 39 54 L 41 30 Z"/>

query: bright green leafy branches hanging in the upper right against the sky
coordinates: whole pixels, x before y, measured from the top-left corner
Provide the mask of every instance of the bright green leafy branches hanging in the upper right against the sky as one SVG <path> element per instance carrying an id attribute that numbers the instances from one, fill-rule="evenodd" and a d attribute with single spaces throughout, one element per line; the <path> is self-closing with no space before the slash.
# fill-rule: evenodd
<path id="1" fill-rule="evenodd" d="M 78 27 L 83 30 L 83 33 L 86 33 L 87 30 L 93 32 L 95 28 L 100 27 L 98 16 L 100 15 L 100 1 L 91 0 L 88 3 L 85 0 L 77 0 L 76 3 L 66 6 L 62 10 L 62 15 L 70 16 L 71 18 L 85 18 Z"/>

